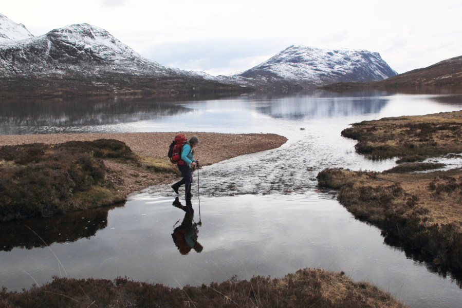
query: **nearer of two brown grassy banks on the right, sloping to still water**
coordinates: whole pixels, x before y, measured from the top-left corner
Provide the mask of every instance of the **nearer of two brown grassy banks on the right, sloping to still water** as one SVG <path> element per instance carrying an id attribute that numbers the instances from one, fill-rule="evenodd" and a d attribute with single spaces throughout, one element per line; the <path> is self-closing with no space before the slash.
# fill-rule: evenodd
<path id="1" fill-rule="evenodd" d="M 332 188 L 341 183 L 338 199 L 356 217 L 422 249 L 435 264 L 462 269 L 461 169 L 418 174 L 326 169 L 318 180 Z"/>

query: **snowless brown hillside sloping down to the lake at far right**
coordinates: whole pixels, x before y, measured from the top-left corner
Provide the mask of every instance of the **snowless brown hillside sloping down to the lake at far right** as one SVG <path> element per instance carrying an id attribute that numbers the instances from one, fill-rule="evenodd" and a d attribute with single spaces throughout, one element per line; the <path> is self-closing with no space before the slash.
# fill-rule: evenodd
<path id="1" fill-rule="evenodd" d="M 340 82 L 321 87 L 321 89 L 345 91 L 367 88 L 401 88 L 421 86 L 462 86 L 462 56 L 453 57 L 429 67 L 415 69 L 378 82 Z"/>

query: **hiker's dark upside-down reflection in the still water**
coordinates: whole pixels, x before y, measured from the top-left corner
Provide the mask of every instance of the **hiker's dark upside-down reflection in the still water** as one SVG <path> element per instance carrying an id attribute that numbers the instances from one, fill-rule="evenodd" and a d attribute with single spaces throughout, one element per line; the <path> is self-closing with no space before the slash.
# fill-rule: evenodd
<path id="1" fill-rule="evenodd" d="M 202 223 L 200 221 L 198 223 L 194 222 L 194 209 L 191 200 L 186 200 L 186 206 L 183 206 L 176 197 L 172 205 L 181 208 L 185 212 L 181 225 L 173 230 L 173 242 L 182 255 L 189 254 L 191 248 L 200 253 L 204 247 L 197 242 L 197 233 L 199 232 L 197 226 L 202 225 Z"/>

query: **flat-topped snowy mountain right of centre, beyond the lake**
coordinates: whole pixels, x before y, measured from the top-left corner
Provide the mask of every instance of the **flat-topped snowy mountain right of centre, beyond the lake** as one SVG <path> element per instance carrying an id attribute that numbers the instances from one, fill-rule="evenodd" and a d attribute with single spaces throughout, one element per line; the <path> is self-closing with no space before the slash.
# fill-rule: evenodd
<path id="1" fill-rule="evenodd" d="M 378 52 L 292 45 L 237 76 L 322 86 L 338 81 L 378 81 L 396 74 Z"/>

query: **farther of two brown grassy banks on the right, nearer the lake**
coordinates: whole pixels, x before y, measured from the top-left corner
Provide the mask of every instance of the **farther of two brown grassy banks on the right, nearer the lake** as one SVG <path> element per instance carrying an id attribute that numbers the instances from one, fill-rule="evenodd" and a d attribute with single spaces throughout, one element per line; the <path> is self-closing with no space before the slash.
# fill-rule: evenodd
<path id="1" fill-rule="evenodd" d="M 383 118 L 352 126 L 342 136 L 358 140 L 356 151 L 372 159 L 400 156 L 400 163 L 462 152 L 462 111 Z"/>

